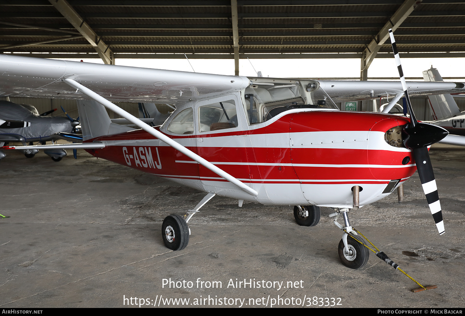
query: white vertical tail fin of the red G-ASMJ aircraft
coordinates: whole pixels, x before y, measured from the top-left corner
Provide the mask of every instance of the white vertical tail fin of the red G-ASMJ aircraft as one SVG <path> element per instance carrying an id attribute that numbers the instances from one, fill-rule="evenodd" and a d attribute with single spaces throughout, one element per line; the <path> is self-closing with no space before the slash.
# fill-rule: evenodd
<path id="1" fill-rule="evenodd" d="M 112 123 L 105 107 L 96 101 L 78 100 L 78 111 L 83 141 L 133 130 L 131 127 Z"/>

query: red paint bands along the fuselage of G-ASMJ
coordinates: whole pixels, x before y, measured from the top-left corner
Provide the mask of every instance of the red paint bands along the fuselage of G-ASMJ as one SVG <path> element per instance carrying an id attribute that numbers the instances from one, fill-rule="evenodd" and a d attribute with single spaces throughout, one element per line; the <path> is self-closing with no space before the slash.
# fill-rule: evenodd
<path id="1" fill-rule="evenodd" d="M 373 130 L 385 132 L 386 130 L 408 123 L 409 120 L 404 117 L 386 115 L 380 113 L 360 113 L 360 112 L 340 112 L 340 111 L 310 111 L 290 113 L 280 117 L 276 122 L 270 123 L 263 128 L 251 126 L 251 130 L 221 132 L 221 133 L 202 133 L 199 135 L 168 135 L 173 139 L 196 139 L 200 137 L 223 137 L 230 135 L 244 134 L 261 134 L 265 139 L 266 134 L 275 133 L 302 133 L 315 131 L 341 131 L 348 130 L 370 131 Z M 265 124 L 265 123 L 264 123 Z M 257 124 L 262 125 L 262 124 Z M 155 129 L 159 130 L 159 127 Z M 289 130 L 291 129 L 291 130 Z M 291 134 L 292 135 L 292 134 Z M 134 130 L 118 135 L 106 135 L 98 137 L 95 141 L 125 141 L 125 140 L 146 140 L 156 139 L 153 135 L 143 130 Z M 194 141 L 194 140 L 193 140 Z M 265 142 L 265 141 L 264 141 Z M 328 146 L 330 146 L 328 144 Z M 337 146 L 336 144 L 331 146 Z M 157 148 L 161 168 L 153 168 L 149 163 L 148 167 L 143 166 L 142 158 L 139 156 L 139 162 L 135 158 L 128 158 L 123 155 L 123 147 L 126 147 L 128 155 L 136 156 L 136 153 L 147 155 L 149 149 L 153 161 L 158 160 Z M 140 149 L 142 148 L 142 149 Z M 414 163 L 411 152 L 401 152 L 389 150 L 368 150 L 368 149 L 343 149 L 343 148 L 230 148 L 230 147 L 188 147 L 194 153 L 198 153 L 207 161 L 228 162 L 232 164 L 218 164 L 227 173 L 238 179 L 251 179 L 252 181 L 260 180 L 390 180 L 407 178 L 413 174 L 416 167 L 407 168 L 378 168 L 376 166 L 360 168 L 337 168 L 337 167 L 319 167 L 319 166 L 276 166 L 271 164 L 329 164 L 329 165 L 389 165 L 402 166 L 401 161 L 405 156 L 410 157 L 410 164 Z M 144 172 L 152 174 L 165 175 L 167 177 L 185 176 L 192 179 L 202 179 L 205 177 L 217 178 L 218 175 L 212 171 L 200 166 L 197 163 L 180 163 L 175 161 L 192 161 L 187 156 L 168 146 L 138 146 L 128 143 L 126 146 L 107 146 L 106 148 L 87 150 L 98 157 L 128 165 L 130 161 L 131 168 L 137 168 Z M 132 159 L 132 160 L 131 160 Z M 147 159 L 147 157 L 146 157 Z M 292 160 L 291 160 L 292 159 Z M 242 164 L 234 164 L 240 162 Z M 247 164 L 248 163 L 248 164 Z M 270 165 L 256 165 L 256 163 Z M 153 166 L 153 165 L 152 165 Z M 200 168 L 200 173 L 199 173 Z M 206 179 L 207 180 L 207 179 Z M 216 180 L 213 180 L 216 181 Z M 289 182 L 282 182 L 289 183 Z M 315 182 L 317 183 L 317 182 Z M 321 183 L 321 182 L 318 182 Z M 337 182 L 341 183 L 341 182 Z M 350 183 L 350 182 L 349 182 Z M 379 182 L 375 182 L 379 183 Z"/>

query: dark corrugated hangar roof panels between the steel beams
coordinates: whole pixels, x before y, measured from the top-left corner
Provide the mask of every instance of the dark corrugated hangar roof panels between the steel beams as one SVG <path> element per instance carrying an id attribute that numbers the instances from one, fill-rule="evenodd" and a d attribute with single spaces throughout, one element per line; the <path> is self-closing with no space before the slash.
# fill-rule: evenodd
<path id="1" fill-rule="evenodd" d="M 1 0 L 0 51 L 96 58 L 92 40 L 83 37 L 52 2 L 55 0 Z M 239 55 L 361 58 L 404 2 L 407 0 L 237 0 Z M 189 58 L 234 58 L 231 0 L 68 3 L 82 19 L 81 26 L 87 25 L 95 33 L 93 42 L 105 43 L 102 51 L 106 47 L 117 58 L 185 58 L 184 53 Z M 465 1 L 423 0 L 417 4 L 395 31 L 399 52 L 411 57 L 425 53 L 464 57 Z M 378 57 L 387 52 L 391 52 L 389 39 L 379 48 Z"/>

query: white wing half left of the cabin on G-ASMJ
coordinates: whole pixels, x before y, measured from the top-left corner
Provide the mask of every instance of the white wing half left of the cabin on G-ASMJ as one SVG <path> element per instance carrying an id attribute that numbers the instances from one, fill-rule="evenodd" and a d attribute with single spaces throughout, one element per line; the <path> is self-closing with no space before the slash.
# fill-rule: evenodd
<path id="1" fill-rule="evenodd" d="M 111 101 L 184 103 L 242 90 L 247 77 L 0 55 L 0 96 L 88 99 L 72 77 Z"/>

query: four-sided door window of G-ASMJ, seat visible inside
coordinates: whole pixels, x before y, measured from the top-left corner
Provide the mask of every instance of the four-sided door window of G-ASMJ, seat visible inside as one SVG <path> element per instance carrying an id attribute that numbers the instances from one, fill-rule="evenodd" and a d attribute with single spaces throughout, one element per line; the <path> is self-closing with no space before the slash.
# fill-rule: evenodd
<path id="1" fill-rule="evenodd" d="M 233 100 L 199 107 L 199 131 L 211 132 L 238 126 L 236 103 Z"/>

